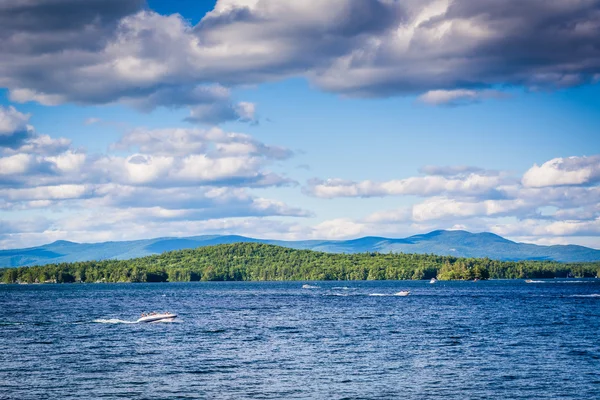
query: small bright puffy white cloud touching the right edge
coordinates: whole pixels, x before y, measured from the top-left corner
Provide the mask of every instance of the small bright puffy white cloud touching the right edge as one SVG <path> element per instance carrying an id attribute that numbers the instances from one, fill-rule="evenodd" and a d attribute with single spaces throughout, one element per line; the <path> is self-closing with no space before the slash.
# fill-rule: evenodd
<path id="1" fill-rule="evenodd" d="M 535 164 L 525 175 L 526 187 L 587 185 L 600 181 L 600 156 L 554 158 Z"/>

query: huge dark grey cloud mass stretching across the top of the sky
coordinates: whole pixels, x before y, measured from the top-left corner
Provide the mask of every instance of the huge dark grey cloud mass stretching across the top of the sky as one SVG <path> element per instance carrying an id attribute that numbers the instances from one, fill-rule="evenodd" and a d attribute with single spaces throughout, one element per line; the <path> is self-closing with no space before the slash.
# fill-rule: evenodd
<path id="1" fill-rule="evenodd" d="M 448 104 L 600 74 L 595 0 L 220 0 L 195 26 L 138 0 L 1 7 L 0 85 L 21 102 L 186 106 L 214 123 L 253 119 L 211 97 L 214 84 L 304 76 L 342 94 Z"/>

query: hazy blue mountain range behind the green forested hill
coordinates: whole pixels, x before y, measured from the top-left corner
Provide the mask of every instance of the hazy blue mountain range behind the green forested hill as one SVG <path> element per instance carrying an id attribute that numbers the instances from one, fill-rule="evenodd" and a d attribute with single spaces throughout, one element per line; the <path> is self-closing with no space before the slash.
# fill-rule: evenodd
<path id="1" fill-rule="evenodd" d="M 583 246 L 538 246 L 513 242 L 487 232 L 470 233 L 439 230 L 404 239 L 368 236 L 353 240 L 282 241 L 253 239 L 236 235 L 205 235 L 104 243 L 74 243 L 59 240 L 27 249 L 0 250 L 0 267 L 105 259 L 126 260 L 160 254 L 165 251 L 237 242 L 265 243 L 328 253 L 432 253 L 456 257 L 489 257 L 496 260 L 551 260 L 561 262 L 600 260 L 600 250 Z"/>

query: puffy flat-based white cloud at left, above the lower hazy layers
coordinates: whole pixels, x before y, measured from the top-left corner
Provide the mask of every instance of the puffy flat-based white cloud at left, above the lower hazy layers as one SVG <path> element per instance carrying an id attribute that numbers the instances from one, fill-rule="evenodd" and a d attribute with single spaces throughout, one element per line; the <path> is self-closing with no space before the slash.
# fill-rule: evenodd
<path id="1" fill-rule="evenodd" d="M 0 186 L 268 187 L 295 183 L 266 169 L 272 161 L 290 158 L 290 150 L 218 128 L 133 129 L 112 148 L 129 154 L 89 155 L 72 149 L 65 139 L 35 136 L 0 157 Z"/>

